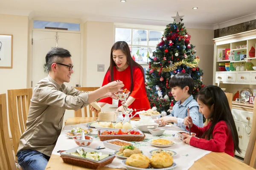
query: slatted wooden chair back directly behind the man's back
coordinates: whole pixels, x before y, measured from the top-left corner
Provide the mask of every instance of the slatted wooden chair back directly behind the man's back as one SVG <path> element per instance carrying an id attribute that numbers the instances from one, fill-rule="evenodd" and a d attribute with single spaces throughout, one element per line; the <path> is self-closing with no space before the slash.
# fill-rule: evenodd
<path id="1" fill-rule="evenodd" d="M 8 90 L 9 123 L 15 154 L 19 146 L 20 136 L 26 129 L 32 88 Z"/>

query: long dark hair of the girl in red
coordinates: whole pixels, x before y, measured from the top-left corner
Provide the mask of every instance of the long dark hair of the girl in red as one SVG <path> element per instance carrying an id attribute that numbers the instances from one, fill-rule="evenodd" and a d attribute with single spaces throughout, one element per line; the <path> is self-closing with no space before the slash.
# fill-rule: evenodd
<path id="1" fill-rule="evenodd" d="M 199 91 L 197 99 L 200 100 L 204 105 L 207 105 L 209 109 L 213 105 L 213 111 L 208 118 L 212 121 L 212 123 L 201 138 L 206 137 L 207 140 L 212 139 L 212 131 L 215 125 L 223 120 L 227 124 L 229 133 L 232 134 L 234 152 L 237 150 L 239 153 L 241 153 L 235 121 L 227 101 L 227 96 L 224 94 L 221 88 L 215 85 L 208 85 Z"/>

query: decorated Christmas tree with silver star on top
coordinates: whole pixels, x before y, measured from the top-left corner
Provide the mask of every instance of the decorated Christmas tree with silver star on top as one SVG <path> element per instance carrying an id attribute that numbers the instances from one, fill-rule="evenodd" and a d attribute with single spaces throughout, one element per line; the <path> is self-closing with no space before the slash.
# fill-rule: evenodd
<path id="1" fill-rule="evenodd" d="M 176 102 L 169 88 L 169 81 L 179 73 L 189 74 L 195 81 L 192 92 L 194 98 L 205 85 L 202 82 L 203 71 L 198 68 L 199 57 L 195 45 L 190 44 L 187 33 L 178 12 L 174 22 L 166 26 L 161 41 L 149 59 L 149 71 L 146 72 L 147 95 L 151 108 L 156 107 L 162 116 L 171 111 L 171 102 Z M 169 112 L 167 112 L 169 114 Z"/>

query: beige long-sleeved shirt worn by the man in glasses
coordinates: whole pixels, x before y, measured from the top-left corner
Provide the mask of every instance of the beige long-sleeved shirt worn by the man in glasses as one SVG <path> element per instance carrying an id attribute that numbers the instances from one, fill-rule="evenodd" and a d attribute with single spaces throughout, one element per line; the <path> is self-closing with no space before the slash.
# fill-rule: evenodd
<path id="1" fill-rule="evenodd" d="M 49 75 L 35 86 L 29 106 L 26 130 L 20 137 L 20 150 L 38 150 L 51 156 L 61 133 L 65 110 L 89 105 L 88 93 L 58 85 Z"/>

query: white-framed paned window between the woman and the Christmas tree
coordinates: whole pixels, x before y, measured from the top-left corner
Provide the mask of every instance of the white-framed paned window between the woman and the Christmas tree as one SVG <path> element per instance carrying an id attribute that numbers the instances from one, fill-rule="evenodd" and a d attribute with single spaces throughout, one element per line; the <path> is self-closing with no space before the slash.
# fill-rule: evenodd
<path id="1" fill-rule="evenodd" d="M 125 41 L 131 47 L 131 56 L 139 64 L 147 64 L 152 57 L 163 31 L 143 28 L 115 28 L 115 42 Z"/>

